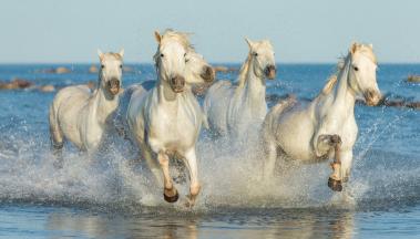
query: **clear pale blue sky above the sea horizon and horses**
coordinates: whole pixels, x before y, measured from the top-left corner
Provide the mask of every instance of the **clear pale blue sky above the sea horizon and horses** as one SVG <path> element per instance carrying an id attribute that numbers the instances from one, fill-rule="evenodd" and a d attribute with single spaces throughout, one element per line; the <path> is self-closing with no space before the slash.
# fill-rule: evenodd
<path id="1" fill-rule="evenodd" d="M 416 0 L 3 0 L 0 63 L 96 62 L 98 48 L 151 62 L 166 28 L 193 32 L 211 62 L 242 62 L 244 37 L 272 40 L 277 62 L 336 62 L 354 40 L 379 62 L 420 62 L 419 11 Z"/>

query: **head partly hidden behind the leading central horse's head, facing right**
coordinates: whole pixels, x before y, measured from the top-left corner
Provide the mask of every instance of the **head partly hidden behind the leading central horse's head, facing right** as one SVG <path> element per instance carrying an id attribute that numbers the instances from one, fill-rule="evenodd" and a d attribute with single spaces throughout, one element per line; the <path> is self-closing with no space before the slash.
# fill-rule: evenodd
<path id="1" fill-rule="evenodd" d="M 189 84 L 211 83 L 214 81 L 215 72 L 203 58 L 203 55 L 188 51 L 186 54 L 185 80 Z"/>

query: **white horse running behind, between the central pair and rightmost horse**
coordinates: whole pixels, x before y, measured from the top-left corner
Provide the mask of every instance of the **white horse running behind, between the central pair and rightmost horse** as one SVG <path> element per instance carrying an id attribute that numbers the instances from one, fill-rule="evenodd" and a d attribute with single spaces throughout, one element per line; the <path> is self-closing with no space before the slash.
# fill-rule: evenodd
<path id="1" fill-rule="evenodd" d="M 267 114 L 266 79 L 275 79 L 274 51 L 269 41 L 253 42 L 237 85 L 219 81 L 212 85 L 204 102 L 209 127 L 222 136 L 237 137 L 249 126 L 259 127 Z"/>

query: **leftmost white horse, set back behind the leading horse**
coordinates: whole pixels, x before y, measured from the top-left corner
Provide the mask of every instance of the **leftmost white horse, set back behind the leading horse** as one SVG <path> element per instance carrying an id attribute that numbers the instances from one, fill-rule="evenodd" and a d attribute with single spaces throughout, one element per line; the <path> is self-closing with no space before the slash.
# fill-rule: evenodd
<path id="1" fill-rule="evenodd" d="M 96 90 L 86 85 L 59 91 L 50 106 L 50 136 L 53 148 L 61 152 L 64 138 L 81 150 L 94 152 L 102 141 L 109 116 L 119 104 L 124 50 L 120 53 L 98 51 L 101 69 Z"/>

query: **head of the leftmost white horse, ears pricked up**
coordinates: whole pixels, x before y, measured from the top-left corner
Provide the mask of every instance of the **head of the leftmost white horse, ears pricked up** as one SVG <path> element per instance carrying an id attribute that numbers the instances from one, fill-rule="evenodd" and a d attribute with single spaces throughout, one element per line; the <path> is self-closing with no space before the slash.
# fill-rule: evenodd
<path id="1" fill-rule="evenodd" d="M 98 55 L 101 62 L 99 86 L 111 95 L 119 94 L 122 83 L 124 50 L 121 50 L 119 53 L 102 53 L 101 50 L 98 50 Z"/>

